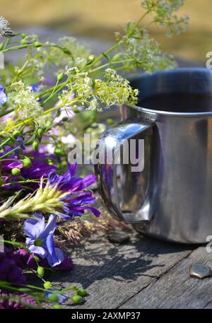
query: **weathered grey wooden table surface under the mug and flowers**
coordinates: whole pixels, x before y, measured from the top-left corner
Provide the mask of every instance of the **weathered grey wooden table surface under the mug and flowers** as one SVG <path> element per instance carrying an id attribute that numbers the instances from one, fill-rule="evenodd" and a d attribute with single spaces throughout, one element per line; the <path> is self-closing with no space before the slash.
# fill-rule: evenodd
<path id="1" fill-rule="evenodd" d="M 61 32 L 31 28 L 41 40 L 55 40 Z M 28 32 L 29 30 L 22 30 Z M 31 32 L 31 30 L 30 30 Z M 95 52 L 108 44 L 89 40 Z M 13 61 L 17 57 L 7 56 Z M 179 59 L 179 66 L 203 66 Z M 70 249 L 73 271 L 54 276 L 63 288 L 73 283 L 88 290 L 86 303 L 74 308 L 212 308 L 212 278 L 189 277 L 189 266 L 200 262 L 212 267 L 205 247 L 177 245 L 143 237 L 134 230 L 124 245 L 114 245 L 104 235 L 85 240 Z M 73 308 L 69 300 L 67 308 Z"/>

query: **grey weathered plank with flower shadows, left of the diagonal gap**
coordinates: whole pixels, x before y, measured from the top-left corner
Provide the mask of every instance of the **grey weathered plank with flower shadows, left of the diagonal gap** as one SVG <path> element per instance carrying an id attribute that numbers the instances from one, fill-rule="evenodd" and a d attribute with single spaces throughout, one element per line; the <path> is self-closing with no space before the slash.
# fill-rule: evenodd
<path id="1" fill-rule="evenodd" d="M 90 296 L 81 308 L 116 308 L 156 281 L 192 252 L 192 247 L 151 240 L 135 233 L 126 245 L 95 237 L 73 250 L 75 269 L 55 281 L 81 283 Z M 66 304 L 67 307 L 71 303 Z"/>

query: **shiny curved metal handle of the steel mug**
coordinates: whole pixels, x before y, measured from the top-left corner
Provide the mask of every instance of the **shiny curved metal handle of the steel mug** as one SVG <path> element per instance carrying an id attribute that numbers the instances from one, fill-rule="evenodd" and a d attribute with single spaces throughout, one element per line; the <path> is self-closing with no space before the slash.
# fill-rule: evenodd
<path id="1" fill-rule="evenodd" d="M 102 203 L 114 218 L 130 223 L 151 220 L 149 201 L 143 201 L 139 211 L 122 211 L 117 186 L 117 155 L 124 140 L 129 140 L 136 134 L 153 127 L 153 122 L 141 119 L 126 119 L 107 129 L 98 141 L 99 155 L 103 153 L 104 160 L 95 163 L 95 174 L 98 177 L 98 189 Z M 108 155 L 110 163 L 108 163 Z M 103 163 L 102 163 L 103 161 Z"/>

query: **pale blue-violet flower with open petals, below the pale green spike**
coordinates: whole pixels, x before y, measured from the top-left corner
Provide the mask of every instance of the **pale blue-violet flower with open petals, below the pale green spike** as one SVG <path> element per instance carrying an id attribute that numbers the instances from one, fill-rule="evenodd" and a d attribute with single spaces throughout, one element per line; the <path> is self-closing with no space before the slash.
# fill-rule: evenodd
<path id="1" fill-rule="evenodd" d="M 40 258 L 46 258 L 52 267 L 61 264 L 64 260 L 64 253 L 61 249 L 54 247 L 53 240 L 57 216 L 51 214 L 47 223 L 45 223 L 44 216 L 40 214 L 34 214 L 34 216 L 35 218 L 29 218 L 23 224 L 28 249 Z"/>

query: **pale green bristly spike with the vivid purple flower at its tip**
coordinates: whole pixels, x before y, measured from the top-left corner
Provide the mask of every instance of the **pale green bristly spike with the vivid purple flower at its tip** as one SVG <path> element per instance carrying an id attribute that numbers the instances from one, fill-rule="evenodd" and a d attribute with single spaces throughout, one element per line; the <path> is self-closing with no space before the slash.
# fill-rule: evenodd
<path id="1" fill-rule="evenodd" d="M 64 175 L 50 172 L 47 183 L 40 182 L 40 188 L 35 194 L 28 194 L 13 204 L 8 199 L 0 206 L 0 218 L 6 220 L 18 220 L 28 218 L 30 213 L 54 213 L 61 218 L 73 220 L 75 216 L 81 216 L 86 210 L 90 210 L 95 216 L 100 216 L 98 210 L 90 206 L 95 197 L 90 192 L 82 192 L 96 181 L 95 175 L 84 178 L 73 177 L 77 170 L 77 164 L 69 165 L 69 170 Z"/>

